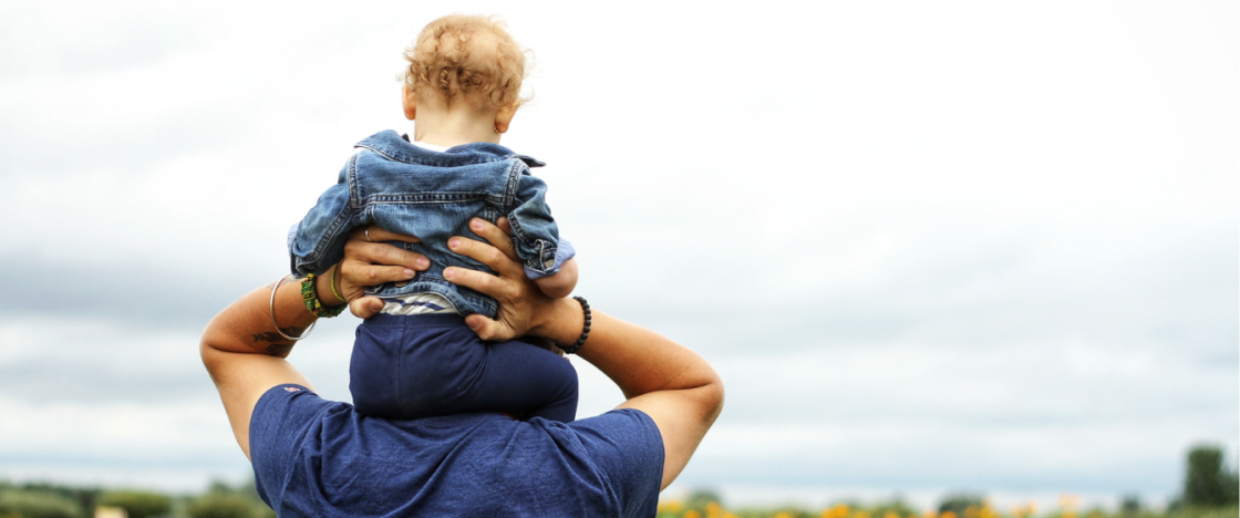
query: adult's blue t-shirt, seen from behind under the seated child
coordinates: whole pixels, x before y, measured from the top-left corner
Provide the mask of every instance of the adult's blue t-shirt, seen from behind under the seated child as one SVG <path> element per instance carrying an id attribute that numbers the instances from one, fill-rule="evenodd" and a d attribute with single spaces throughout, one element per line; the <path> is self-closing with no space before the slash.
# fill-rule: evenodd
<path id="1" fill-rule="evenodd" d="M 258 400 L 249 451 L 281 517 L 652 517 L 663 476 L 662 437 L 635 409 L 387 420 L 300 385 Z"/>

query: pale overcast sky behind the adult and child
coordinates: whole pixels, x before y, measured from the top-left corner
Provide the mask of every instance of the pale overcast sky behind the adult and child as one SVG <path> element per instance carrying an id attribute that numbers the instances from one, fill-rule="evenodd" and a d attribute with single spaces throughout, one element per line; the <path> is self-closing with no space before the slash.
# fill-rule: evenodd
<path id="1" fill-rule="evenodd" d="M 723 377 L 668 494 L 1163 502 L 1190 445 L 1235 465 L 1236 2 L 727 5 L 0 0 L 0 480 L 248 476 L 200 333 L 412 130 L 401 52 L 451 12 L 532 50 L 502 144 L 577 292 Z M 290 357 L 324 397 L 357 322 Z M 578 415 L 621 402 L 574 364 Z"/>

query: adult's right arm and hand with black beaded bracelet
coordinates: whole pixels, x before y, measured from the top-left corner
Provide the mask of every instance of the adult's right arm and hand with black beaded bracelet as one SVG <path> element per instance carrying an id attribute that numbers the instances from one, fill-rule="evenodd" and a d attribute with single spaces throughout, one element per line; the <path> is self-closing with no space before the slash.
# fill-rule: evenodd
<path id="1" fill-rule="evenodd" d="M 507 340 L 528 332 L 562 345 L 575 343 L 585 323 L 582 306 L 572 299 L 549 299 L 526 279 L 511 239 L 498 227 L 475 219 L 470 229 L 492 245 L 451 238 L 448 247 L 498 275 L 446 268 L 444 278 L 491 295 L 500 304 L 497 320 L 466 317 L 470 328 L 482 340 Z M 692 351 L 598 310 L 593 310 L 590 336 L 578 356 L 620 387 L 629 398 L 620 408 L 641 410 L 658 426 L 665 452 L 662 487 L 667 487 L 723 409 L 719 375 Z"/>

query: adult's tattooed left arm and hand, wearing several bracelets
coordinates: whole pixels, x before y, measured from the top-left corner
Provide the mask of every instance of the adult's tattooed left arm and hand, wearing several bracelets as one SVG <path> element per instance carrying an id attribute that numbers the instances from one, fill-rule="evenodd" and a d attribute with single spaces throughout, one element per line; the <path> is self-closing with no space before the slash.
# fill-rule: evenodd
<path id="1" fill-rule="evenodd" d="M 367 243 L 361 237 L 362 230 L 355 230 L 353 238 L 345 245 L 345 260 L 340 263 L 336 278 L 337 290 L 347 300 L 353 300 L 355 311 L 366 301 L 357 299 L 362 295 L 362 286 L 408 280 L 414 276 L 415 269 L 424 270 L 429 265 L 422 255 L 383 243 Z M 371 229 L 371 238 L 412 239 L 378 228 Z M 332 294 L 330 283 L 326 275 L 316 279 L 319 300 L 327 306 L 345 304 Z M 310 382 L 284 359 L 295 342 L 284 338 L 272 325 L 270 296 L 272 285 L 267 285 L 226 307 L 207 325 L 200 346 L 202 363 L 219 390 L 233 435 L 247 457 L 249 418 L 258 398 L 272 387 L 285 383 L 312 389 Z M 316 318 L 306 311 L 300 283 L 295 279 L 279 286 L 274 307 L 279 331 L 288 336 L 300 336 Z M 373 311 L 370 314 L 373 315 Z"/>

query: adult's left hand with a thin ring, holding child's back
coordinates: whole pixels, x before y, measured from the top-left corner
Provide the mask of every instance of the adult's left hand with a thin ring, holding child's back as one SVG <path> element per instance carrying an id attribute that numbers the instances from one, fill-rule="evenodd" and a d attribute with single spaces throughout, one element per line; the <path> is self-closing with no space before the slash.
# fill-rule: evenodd
<path id="1" fill-rule="evenodd" d="M 383 309 L 383 301 L 366 295 L 366 286 L 413 279 L 430 266 L 422 254 L 393 247 L 387 242 L 420 243 L 413 235 L 396 234 L 371 226 L 353 229 L 345 243 L 345 259 L 340 261 L 340 294 L 348 301 L 348 310 L 360 318 L 370 318 Z"/>

